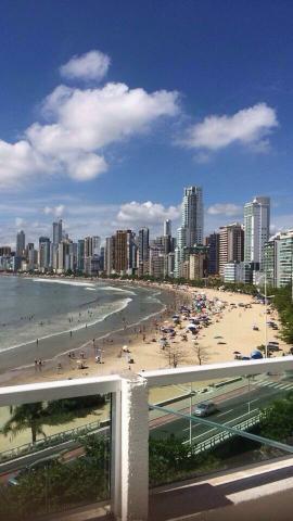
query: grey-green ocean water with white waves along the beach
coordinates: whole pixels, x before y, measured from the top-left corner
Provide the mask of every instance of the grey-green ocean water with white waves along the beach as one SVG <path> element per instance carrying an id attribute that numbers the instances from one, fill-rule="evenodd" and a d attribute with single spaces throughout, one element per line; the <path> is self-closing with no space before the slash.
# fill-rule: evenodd
<path id="1" fill-rule="evenodd" d="M 0 276 L 0 372 L 138 325 L 166 302 L 130 284 Z"/>

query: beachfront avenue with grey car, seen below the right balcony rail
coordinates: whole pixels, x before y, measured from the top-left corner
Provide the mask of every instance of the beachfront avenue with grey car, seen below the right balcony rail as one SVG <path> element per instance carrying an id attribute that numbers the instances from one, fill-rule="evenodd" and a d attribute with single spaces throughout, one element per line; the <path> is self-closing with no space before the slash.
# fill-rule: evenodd
<path id="1" fill-rule="evenodd" d="M 156 410 L 151 412 L 150 429 L 151 435 L 155 437 L 175 435 L 182 440 L 182 443 L 201 444 L 216 436 L 220 429 L 217 424 L 227 427 L 238 427 L 251 418 L 255 418 L 255 422 L 259 420 L 260 411 L 268 406 L 271 401 L 285 396 L 286 393 L 293 391 L 292 376 L 268 376 L 258 374 L 256 377 L 238 379 L 235 382 L 227 382 L 220 390 L 216 390 L 214 385 L 204 387 L 204 392 L 198 389 L 190 395 L 190 386 L 181 387 L 189 394 L 181 401 L 173 404 L 168 402 L 165 407 L 175 412 L 187 416 L 186 419 L 177 418 L 171 414 L 157 414 Z M 192 405 L 191 405 L 192 401 Z M 199 403 L 213 402 L 216 405 L 216 411 L 208 417 L 209 421 L 215 422 L 215 427 L 204 425 L 201 420 L 194 416 L 194 409 Z M 164 404 L 162 404 L 164 408 Z M 189 416 L 192 411 L 192 437 L 190 439 Z M 158 415 L 158 416 L 157 416 Z M 196 421 L 198 420 L 198 421 Z"/>

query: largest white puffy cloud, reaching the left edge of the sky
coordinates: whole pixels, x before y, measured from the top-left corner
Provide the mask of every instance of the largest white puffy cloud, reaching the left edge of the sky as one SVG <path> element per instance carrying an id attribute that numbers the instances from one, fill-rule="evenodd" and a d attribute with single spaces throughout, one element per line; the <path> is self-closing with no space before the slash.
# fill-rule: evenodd
<path id="1" fill-rule="evenodd" d="M 178 93 L 148 93 L 125 84 L 100 88 L 56 87 L 42 103 L 42 117 L 16 143 L 0 141 L 0 188 L 36 175 L 67 175 L 86 181 L 107 170 L 106 147 L 150 130 L 179 113 Z"/>

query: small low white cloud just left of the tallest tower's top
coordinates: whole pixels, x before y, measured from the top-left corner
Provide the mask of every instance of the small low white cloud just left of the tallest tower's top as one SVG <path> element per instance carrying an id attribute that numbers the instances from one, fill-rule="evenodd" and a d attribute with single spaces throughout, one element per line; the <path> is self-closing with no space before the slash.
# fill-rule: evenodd
<path id="1" fill-rule="evenodd" d="M 117 214 L 117 220 L 126 224 L 143 223 L 145 225 L 156 225 L 165 219 L 177 219 L 179 216 L 180 206 L 165 207 L 163 204 L 152 203 L 151 201 L 145 203 L 132 201 L 131 203 L 122 204 Z"/>

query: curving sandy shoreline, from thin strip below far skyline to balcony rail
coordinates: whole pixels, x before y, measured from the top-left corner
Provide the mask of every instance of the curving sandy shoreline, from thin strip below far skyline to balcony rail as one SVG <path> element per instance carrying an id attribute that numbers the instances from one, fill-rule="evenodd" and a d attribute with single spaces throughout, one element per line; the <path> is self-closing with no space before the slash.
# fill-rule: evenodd
<path id="1" fill-rule="evenodd" d="M 36 278 L 36 277 L 33 277 Z M 56 277 L 60 279 L 59 277 Z M 73 277 L 69 277 L 73 280 Z M 79 279 L 79 278 L 78 278 Z M 95 279 L 92 279 L 93 281 Z M 127 327 L 119 327 L 115 331 L 109 331 L 105 334 L 95 339 L 97 343 L 87 340 L 79 342 L 73 348 L 66 350 L 63 354 L 52 356 L 41 368 L 41 371 L 34 370 L 34 367 L 20 367 L 13 369 L 8 373 L 0 376 L 0 384 L 4 381 L 11 383 L 26 383 L 33 381 L 56 380 L 56 379 L 72 379 L 85 376 L 102 376 L 110 373 L 125 373 L 130 371 L 138 372 L 143 369 L 163 369 L 169 367 L 166 354 L 160 348 L 160 327 L 165 322 L 173 322 L 171 315 L 177 312 L 181 304 L 189 304 L 195 294 L 206 294 L 207 298 L 222 301 L 225 303 L 222 310 L 212 318 L 211 325 L 199 332 L 196 340 L 198 344 L 206 352 L 204 364 L 231 361 L 233 359 L 234 351 L 240 351 L 243 356 L 250 356 L 253 348 L 264 343 L 265 336 L 265 318 L 264 307 L 256 304 L 251 295 L 242 293 L 230 293 L 229 291 L 221 292 L 211 288 L 193 288 L 189 285 L 175 287 L 173 283 L 166 282 L 148 282 L 141 280 L 116 280 L 102 279 L 109 281 L 111 284 L 119 287 L 131 288 L 149 288 L 164 292 L 168 295 L 168 305 L 165 303 L 161 310 L 150 314 L 148 317 L 141 318 L 136 323 L 129 323 Z M 85 282 L 84 282 L 85 283 Z M 153 295 L 154 296 L 154 295 Z M 211 302 L 212 302 L 211 301 Z M 239 304 L 249 304 L 250 309 L 239 308 Z M 271 315 L 272 316 L 272 315 Z M 273 319 L 278 322 L 277 312 L 275 312 Z M 238 328 L 239 325 L 239 328 Z M 253 325 L 257 326 L 258 330 L 253 331 Z M 138 328 L 136 330 L 136 328 Z M 89 328 L 90 330 L 90 328 Z M 178 331 L 179 333 L 179 331 Z M 145 340 L 143 335 L 145 334 Z M 269 331 L 268 340 L 278 339 L 278 331 Z M 155 341 L 152 341 L 152 338 Z M 221 342 L 217 339 L 222 339 Z M 177 336 L 178 339 L 178 336 Z M 278 339 L 279 340 L 279 339 Z M 178 342 L 175 340 L 173 344 L 178 344 L 182 350 L 182 358 L 179 366 L 196 365 L 199 360 L 194 354 L 194 339 L 188 338 L 187 342 Z M 219 344 L 221 344 L 219 346 Z M 283 352 L 289 347 L 280 342 Z M 129 365 L 126 356 L 120 356 L 122 346 L 128 345 L 131 357 L 135 364 Z M 95 355 L 98 350 L 102 351 L 102 364 L 95 363 Z M 78 351 L 85 352 L 85 369 L 77 369 L 76 358 L 71 359 L 68 352 Z M 273 354 L 280 356 L 282 351 Z M 58 369 L 56 366 L 61 364 Z"/>

